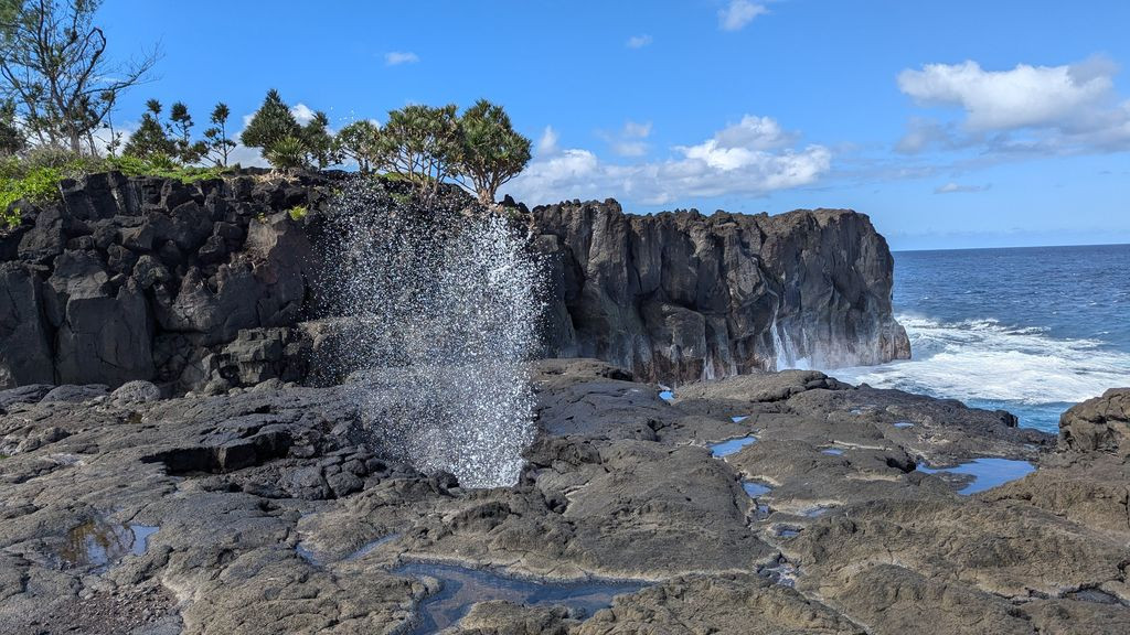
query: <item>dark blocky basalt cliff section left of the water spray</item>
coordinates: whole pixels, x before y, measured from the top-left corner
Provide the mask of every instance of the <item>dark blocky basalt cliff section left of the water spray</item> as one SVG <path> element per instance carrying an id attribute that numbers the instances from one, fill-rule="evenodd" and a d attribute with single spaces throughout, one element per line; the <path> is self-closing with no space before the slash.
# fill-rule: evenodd
<path id="1" fill-rule="evenodd" d="M 24 209 L 0 236 L 0 386 L 299 379 L 284 350 L 270 358 L 315 285 L 311 241 L 288 211 L 323 203 L 328 183 L 64 182 L 61 205 Z"/>

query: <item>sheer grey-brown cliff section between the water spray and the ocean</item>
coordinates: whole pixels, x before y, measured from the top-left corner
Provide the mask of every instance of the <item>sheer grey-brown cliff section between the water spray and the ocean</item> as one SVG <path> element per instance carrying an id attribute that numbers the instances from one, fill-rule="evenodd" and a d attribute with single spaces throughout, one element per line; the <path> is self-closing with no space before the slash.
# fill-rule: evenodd
<path id="1" fill-rule="evenodd" d="M 611 200 L 532 214 L 551 271 L 549 355 L 672 382 L 910 356 L 867 216 L 635 216 Z"/>

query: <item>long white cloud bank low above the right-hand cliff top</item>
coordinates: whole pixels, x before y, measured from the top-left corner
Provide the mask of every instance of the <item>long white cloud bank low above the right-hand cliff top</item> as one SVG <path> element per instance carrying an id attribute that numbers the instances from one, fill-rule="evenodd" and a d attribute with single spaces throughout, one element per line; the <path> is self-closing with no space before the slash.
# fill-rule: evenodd
<path id="1" fill-rule="evenodd" d="M 650 125 L 635 125 L 637 132 L 650 133 Z M 809 185 L 831 168 L 832 153 L 823 146 L 771 149 L 759 137 L 728 138 L 720 142 L 727 130 L 696 145 L 676 146 L 669 158 L 653 162 L 608 163 L 590 150 L 577 148 L 539 156 L 511 182 L 507 191 L 532 203 L 617 197 L 642 205 L 669 205 L 728 194 L 762 195 Z M 736 145 L 739 141 L 746 145 Z"/>

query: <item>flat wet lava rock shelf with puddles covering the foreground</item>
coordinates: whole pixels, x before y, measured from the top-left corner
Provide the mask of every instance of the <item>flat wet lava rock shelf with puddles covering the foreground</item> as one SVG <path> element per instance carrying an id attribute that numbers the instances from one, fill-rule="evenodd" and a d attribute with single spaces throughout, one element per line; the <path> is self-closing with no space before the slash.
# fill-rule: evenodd
<path id="1" fill-rule="evenodd" d="M 818 373 L 670 402 L 594 360 L 533 381 L 527 468 L 488 490 L 390 459 L 340 386 L 0 392 L 0 632 L 410 633 L 433 607 L 449 633 L 1130 623 L 1114 453 Z M 970 496 L 916 469 L 979 458 L 1038 469 Z"/>

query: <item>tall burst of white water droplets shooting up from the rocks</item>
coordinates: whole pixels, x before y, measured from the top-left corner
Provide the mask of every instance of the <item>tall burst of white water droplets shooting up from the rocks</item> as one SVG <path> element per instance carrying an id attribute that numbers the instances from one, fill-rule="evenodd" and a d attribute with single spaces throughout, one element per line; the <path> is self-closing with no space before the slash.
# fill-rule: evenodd
<path id="1" fill-rule="evenodd" d="M 370 441 L 463 487 L 516 482 L 533 437 L 539 269 L 506 218 L 393 201 L 356 179 L 324 233 L 332 362 Z"/>

